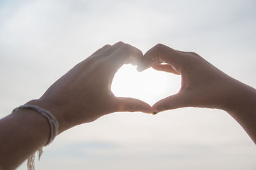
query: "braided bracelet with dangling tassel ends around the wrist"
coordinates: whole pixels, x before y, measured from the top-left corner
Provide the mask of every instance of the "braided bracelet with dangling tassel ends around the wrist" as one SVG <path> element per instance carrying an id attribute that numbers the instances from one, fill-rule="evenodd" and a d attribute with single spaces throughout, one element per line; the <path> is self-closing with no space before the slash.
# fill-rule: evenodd
<path id="1" fill-rule="evenodd" d="M 59 123 L 58 123 L 57 119 L 52 115 L 52 113 L 50 111 L 47 111 L 43 108 L 40 108 L 40 107 L 35 106 L 35 105 L 30 105 L 30 104 L 25 104 L 25 105 L 19 106 L 18 108 L 15 108 L 12 111 L 12 113 L 14 111 L 17 111 L 17 110 L 20 110 L 20 109 L 35 110 L 38 113 L 40 113 L 40 115 L 42 115 L 43 117 L 45 117 L 47 119 L 47 121 L 50 125 L 50 128 L 51 128 L 51 134 L 50 134 L 50 137 L 49 137 L 47 143 L 45 144 L 45 146 L 49 145 L 58 134 Z M 38 159 L 39 160 L 40 160 L 40 157 L 41 157 L 42 153 L 43 153 L 43 150 L 42 150 L 42 148 L 40 148 L 38 150 Z M 28 170 L 34 170 L 35 169 L 34 161 L 35 161 L 35 153 L 33 153 L 30 157 L 28 157 L 28 162 L 27 162 Z"/>

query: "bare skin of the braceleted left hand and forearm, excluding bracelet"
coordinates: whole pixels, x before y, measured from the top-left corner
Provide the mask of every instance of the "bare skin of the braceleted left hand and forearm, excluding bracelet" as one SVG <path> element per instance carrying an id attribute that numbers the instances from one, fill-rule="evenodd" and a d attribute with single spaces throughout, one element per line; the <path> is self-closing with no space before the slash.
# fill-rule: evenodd
<path id="1" fill-rule="evenodd" d="M 116 71 L 142 57 L 140 50 L 122 42 L 103 46 L 70 69 L 40 99 L 27 104 L 51 111 L 60 124 L 59 133 L 116 111 L 151 113 L 147 103 L 111 92 Z M 49 134 L 47 120 L 33 110 L 18 110 L 1 119 L 0 169 L 15 169 L 47 143 Z"/>

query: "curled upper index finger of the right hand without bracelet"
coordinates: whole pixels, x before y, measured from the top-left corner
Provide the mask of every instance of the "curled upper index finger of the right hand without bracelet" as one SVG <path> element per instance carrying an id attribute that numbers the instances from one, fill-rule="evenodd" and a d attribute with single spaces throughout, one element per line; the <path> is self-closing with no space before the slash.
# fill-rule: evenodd
<path id="1" fill-rule="evenodd" d="M 158 44 L 145 53 L 137 69 L 138 71 L 143 71 L 156 63 L 163 62 L 178 67 L 181 55 L 183 55 L 183 53 L 173 50 L 168 46 Z"/>

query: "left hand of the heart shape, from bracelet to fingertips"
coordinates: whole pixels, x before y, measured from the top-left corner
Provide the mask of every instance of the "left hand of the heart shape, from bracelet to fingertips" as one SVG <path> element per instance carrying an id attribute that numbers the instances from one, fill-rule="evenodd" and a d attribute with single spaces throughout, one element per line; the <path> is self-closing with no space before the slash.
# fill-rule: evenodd
<path id="1" fill-rule="evenodd" d="M 136 64 L 141 57 L 140 50 L 122 42 L 103 46 L 70 69 L 39 100 L 29 104 L 51 111 L 60 122 L 60 132 L 115 111 L 151 113 L 147 103 L 116 97 L 111 92 L 116 71 L 125 63 Z"/>

